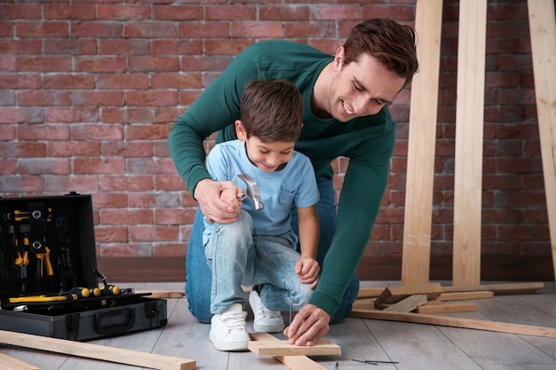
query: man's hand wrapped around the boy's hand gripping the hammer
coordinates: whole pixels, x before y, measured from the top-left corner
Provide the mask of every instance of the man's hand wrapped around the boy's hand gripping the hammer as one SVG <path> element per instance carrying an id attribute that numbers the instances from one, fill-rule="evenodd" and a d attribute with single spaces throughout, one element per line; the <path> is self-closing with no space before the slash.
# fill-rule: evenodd
<path id="1" fill-rule="evenodd" d="M 195 186 L 195 200 L 199 202 L 203 215 L 213 223 L 233 223 L 242 210 L 242 202 L 237 198 L 226 199 L 226 201 L 220 199 L 220 196 L 226 190 L 233 190 L 236 193 L 241 192 L 232 181 L 212 181 L 205 178 Z"/>

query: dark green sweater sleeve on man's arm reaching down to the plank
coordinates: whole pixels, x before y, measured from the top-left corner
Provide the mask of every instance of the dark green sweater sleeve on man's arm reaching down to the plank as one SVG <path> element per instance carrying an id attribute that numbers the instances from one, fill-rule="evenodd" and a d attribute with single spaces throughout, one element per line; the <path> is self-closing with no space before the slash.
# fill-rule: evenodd
<path id="1" fill-rule="evenodd" d="M 321 278 L 311 303 L 327 311 L 338 311 L 377 218 L 385 193 L 395 130 L 366 143 L 366 151 L 350 158 L 340 199 L 338 224 L 330 249 L 322 263 Z"/>

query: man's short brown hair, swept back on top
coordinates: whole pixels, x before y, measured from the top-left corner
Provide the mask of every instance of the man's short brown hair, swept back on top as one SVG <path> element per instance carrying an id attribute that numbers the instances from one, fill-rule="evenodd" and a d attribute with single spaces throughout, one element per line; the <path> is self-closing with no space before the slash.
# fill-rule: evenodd
<path id="1" fill-rule="evenodd" d="M 354 28 L 344 43 L 344 62 L 349 64 L 368 54 L 384 66 L 405 78 L 407 85 L 417 73 L 417 34 L 413 28 L 395 20 L 366 20 Z"/>

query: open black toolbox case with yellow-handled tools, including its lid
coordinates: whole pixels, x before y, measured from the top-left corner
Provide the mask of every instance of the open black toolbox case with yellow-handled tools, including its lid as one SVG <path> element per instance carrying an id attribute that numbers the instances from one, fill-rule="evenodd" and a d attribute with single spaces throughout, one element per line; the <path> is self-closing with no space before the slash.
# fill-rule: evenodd
<path id="1" fill-rule="evenodd" d="M 166 300 L 97 271 L 91 195 L 0 198 L 0 329 L 89 341 L 164 327 Z"/>

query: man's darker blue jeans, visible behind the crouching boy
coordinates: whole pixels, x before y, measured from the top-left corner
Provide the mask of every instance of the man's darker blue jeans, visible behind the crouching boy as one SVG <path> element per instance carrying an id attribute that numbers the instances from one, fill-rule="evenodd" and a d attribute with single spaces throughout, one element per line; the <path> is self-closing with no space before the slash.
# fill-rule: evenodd
<path id="1" fill-rule="evenodd" d="M 319 241 L 317 260 L 319 264 L 322 264 L 322 260 L 330 248 L 332 236 L 336 231 L 336 202 L 331 179 L 317 177 L 317 185 L 321 194 L 321 198 L 317 203 L 317 214 L 321 224 L 321 239 Z M 294 231 L 298 231 L 298 216 L 295 209 L 292 210 L 291 227 Z M 203 247 L 203 230 L 203 214 L 197 209 L 187 250 L 186 295 L 189 311 L 191 311 L 193 316 L 201 322 L 210 323 L 212 318 L 212 313 L 210 312 L 212 273 L 210 272 L 209 264 L 206 262 L 207 258 Z M 299 246 L 297 246 L 296 250 L 299 250 Z M 354 275 L 331 323 L 336 323 L 346 318 L 347 314 L 352 311 L 352 304 L 358 293 L 359 279 L 357 275 Z"/>

